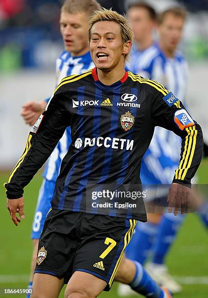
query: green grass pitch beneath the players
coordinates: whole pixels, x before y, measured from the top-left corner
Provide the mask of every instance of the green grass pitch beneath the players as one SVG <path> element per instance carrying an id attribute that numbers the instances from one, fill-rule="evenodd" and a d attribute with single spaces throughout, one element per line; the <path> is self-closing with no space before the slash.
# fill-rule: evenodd
<path id="1" fill-rule="evenodd" d="M 208 184 L 208 159 L 204 159 L 198 170 L 199 182 Z M 2 184 L 8 179 L 8 173 L 0 172 L 0 291 L 2 288 L 27 288 L 32 241 L 31 226 L 35 211 L 38 189 L 42 177 L 38 173 L 25 188 L 26 219 L 17 227 L 10 220 L 6 209 L 5 189 Z M 167 264 L 173 276 L 183 278 L 183 292 L 177 298 L 208 298 L 208 231 L 196 214 L 189 214 L 183 224 L 177 240 L 167 258 Z M 189 277 L 194 277 L 193 282 Z M 188 280 L 188 281 L 187 281 Z M 99 297 L 117 298 L 117 283 L 110 292 Z M 0 294 L 0 295 L 1 295 Z M 0 297 L 23 297 L 22 295 L 2 295 Z M 63 298 L 63 291 L 60 295 Z M 139 297 L 139 296 L 132 296 Z"/>

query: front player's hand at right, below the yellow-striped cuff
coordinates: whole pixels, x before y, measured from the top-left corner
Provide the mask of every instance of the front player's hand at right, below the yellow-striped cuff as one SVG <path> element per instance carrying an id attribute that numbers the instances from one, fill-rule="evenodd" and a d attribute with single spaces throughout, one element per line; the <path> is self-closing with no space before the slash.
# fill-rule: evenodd
<path id="1" fill-rule="evenodd" d="M 174 215 L 180 211 L 181 214 L 188 213 L 191 209 L 191 189 L 187 186 L 173 183 L 168 193 L 168 212 L 174 208 Z"/>

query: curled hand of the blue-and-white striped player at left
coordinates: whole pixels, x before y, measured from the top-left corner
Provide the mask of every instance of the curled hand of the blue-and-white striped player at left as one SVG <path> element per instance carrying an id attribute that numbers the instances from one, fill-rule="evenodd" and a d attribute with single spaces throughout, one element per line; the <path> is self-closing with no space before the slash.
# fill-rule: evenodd
<path id="1" fill-rule="evenodd" d="M 29 101 L 22 106 L 21 116 L 26 124 L 34 125 L 38 117 L 46 108 L 46 101 Z"/>

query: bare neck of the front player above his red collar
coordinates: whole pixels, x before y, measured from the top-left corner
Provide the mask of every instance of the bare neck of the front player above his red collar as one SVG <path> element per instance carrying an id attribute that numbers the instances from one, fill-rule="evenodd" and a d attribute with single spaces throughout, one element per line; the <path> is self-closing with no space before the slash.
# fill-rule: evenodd
<path id="1" fill-rule="evenodd" d="M 102 71 L 100 69 L 97 70 L 99 80 L 107 86 L 118 82 L 123 77 L 123 75 L 125 75 L 124 64 L 122 66 L 120 65 L 119 67 L 115 67 L 110 71 Z"/>

